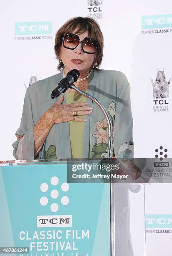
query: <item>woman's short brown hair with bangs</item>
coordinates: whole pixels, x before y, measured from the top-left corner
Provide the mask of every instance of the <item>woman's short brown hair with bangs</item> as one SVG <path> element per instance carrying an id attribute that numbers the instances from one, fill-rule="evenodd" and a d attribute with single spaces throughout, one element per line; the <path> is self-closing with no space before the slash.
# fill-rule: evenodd
<path id="1" fill-rule="evenodd" d="M 75 31 L 77 29 L 77 31 Z M 102 58 L 103 58 L 103 47 L 104 47 L 104 38 L 103 34 L 101 33 L 101 29 L 99 27 L 99 24 L 96 22 L 96 20 L 89 18 L 89 17 L 75 17 L 71 18 L 70 20 L 66 21 L 61 28 L 56 33 L 55 36 L 55 54 L 56 59 L 60 56 L 60 48 L 62 44 L 62 38 L 66 33 L 73 33 L 75 31 L 76 34 L 82 34 L 86 31 L 88 31 L 88 35 L 91 38 L 94 38 L 99 43 L 99 49 L 96 51 L 96 58 L 94 60 L 94 63 L 97 63 L 97 68 L 99 68 Z M 58 70 L 61 71 L 61 68 L 63 67 L 63 62 L 61 62 L 58 65 Z"/>

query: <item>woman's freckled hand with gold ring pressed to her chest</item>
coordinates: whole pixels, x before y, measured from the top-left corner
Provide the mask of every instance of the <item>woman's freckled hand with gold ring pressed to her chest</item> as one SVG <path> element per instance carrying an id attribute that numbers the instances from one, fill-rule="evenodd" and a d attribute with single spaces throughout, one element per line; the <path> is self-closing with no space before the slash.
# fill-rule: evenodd
<path id="1" fill-rule="evenodd" d="M 61 95 L 51 108 L 46 111 L 46 115 L 48 115 L 48 118 L 52 120 L 53 124 L 68 121 L 85 122 L 86 119 L 79 118 L 78 116 L 89 115 L 93 112 L 93 108 L 89 108 L 88 103 L 86 102 L 62 105 L 63 100 L 64 97 Z M 73 116 L 74 111 L 77 111 L 77 116 Z"/>

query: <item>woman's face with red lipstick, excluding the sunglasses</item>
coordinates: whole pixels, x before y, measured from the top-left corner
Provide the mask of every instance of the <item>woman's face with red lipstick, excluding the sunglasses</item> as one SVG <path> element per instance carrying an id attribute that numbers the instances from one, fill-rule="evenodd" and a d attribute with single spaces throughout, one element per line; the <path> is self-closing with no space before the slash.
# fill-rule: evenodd
<path id="1" fill-rule="evenodd" d="M 85 37 L 89 37 L 87 31 L 78 36 L 81 41 Z M 96 53 L 84 53 L 81 49 L 81 44 L 78 44 L 78 46 L 74 50 L 64 48 L 63 43 L 61 45 L 60 59 L 63 61 L 65 67 L 65 74 L 67 74 L 72 69 L 78 69 L 81 76 L 88 74 L 94 64 L 95 56 Z"/>

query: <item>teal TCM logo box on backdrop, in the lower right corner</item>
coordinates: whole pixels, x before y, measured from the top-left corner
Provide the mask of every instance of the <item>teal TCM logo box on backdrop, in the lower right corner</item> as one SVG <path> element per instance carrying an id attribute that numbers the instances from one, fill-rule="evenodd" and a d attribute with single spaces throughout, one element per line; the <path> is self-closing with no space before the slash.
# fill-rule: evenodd
<path id="1" fill-rule="evenodd" d="M 146 228 L 172 228 L 171 214 L 146 214 Z"/>

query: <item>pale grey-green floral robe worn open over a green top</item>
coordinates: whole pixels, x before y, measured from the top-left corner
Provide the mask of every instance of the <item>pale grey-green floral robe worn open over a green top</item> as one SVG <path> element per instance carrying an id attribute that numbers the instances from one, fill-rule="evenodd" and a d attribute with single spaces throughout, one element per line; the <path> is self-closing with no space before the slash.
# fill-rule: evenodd
<path id="1" fill-rule="evenodd" d="M 62 72 L 40 80 L 26 91 L 20 128 L 16 131 L 18 141 L 13 143 L 16 159 L 34 159 L 33 127 L 43 113 L 57 100 L 51 99 L 51 92 L 62 79 Z M 94 70 L 89 78 L 87 92 L 96 97 L 109 112 L 113 126 L 113 147 L 111 156 L 133 157 L 132 112 L 130 85 L 126 76 L 119 71 Z M 65 94 L 62 104 L 65 104 Z M 86 115 L 83 132 L 83 158 L 106 157 L 108 127 L 101 109 L 90 99 L 94 107 Z M 20 140 L 19 140 L 20 139 Z M 69 123 L 53 125 L 36 159 L 71 158 Z"/>

